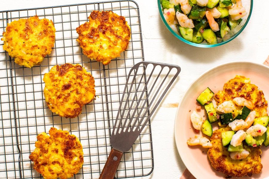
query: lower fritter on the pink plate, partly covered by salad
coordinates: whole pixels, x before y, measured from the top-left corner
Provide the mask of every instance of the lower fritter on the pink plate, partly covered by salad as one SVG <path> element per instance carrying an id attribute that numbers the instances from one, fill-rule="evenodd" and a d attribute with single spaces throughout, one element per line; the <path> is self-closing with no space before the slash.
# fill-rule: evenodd
<path id="1" fill-rule="evenodd" d="M 250 154 L 245 159 L 233 160 L 230 158 L 230 152 L 222 145 L 221 138 L 221 132 L 230 130 L 232 130 L 230 127 L 226 127 L 213 132 L 211 137 L 213 147 L 207 151 L 213 168 L 227 175 L 226 178 L 231 178 L 232 176 L 251 177 L 252 174 L 260 173 L 262 171 L 262 151 L 259 147 L 250 147 Z"/>

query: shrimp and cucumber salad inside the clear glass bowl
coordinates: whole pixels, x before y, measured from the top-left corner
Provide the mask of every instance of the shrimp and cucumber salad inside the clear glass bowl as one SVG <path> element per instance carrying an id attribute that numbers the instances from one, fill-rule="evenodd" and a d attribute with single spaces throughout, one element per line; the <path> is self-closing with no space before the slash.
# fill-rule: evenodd
<path id="1" fill-rule="evenodd" d="M 247 14 L 241 0 L 161 0 L 161 6 L 172 30 L 197 44 L 217 43 Z"/>

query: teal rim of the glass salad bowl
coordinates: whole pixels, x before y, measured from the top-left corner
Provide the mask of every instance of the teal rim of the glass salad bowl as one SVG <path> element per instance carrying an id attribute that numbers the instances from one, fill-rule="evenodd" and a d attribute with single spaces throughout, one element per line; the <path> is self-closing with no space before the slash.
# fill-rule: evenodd
<path id="1" fill-rule="evenodd" d="M 210 48 L 210 47 L 218 47 L 220 45 L 223 45 L 223 44 L 226 44 L 228 43 L 229 41 L 233 40 L 234 38 L 236 38 L 243 30 L 244 28 L 247 26 L 247 23 L 250 19 L 250 16 L 251 16 L 251 13 L 252 13 L 252 8 L 253 8 L 253 0 L 250 0 L 250 12 L 249 12 L 249 15 L 247 16 L 247 20 L 245 22 L 245 24 L 242 26 L 242 28 L 236 33 L 234 34 L 231 38 L 229 38 L 228 40 L 226 41 L 222 41 L 218 44 L 196 44 L 194 42 L 190 42 L 190 41 L 187 41 L 185 40 L 184 38 L 182 38 L 180 35 L 178 35 L 177 33 L 174 32 L 174 30 L 172 30 L 172 28 L 168 25 L 168 23 L 166 22 L 164 16 L 163 16 L 163 11 L 162 11 L 162 7 L 161 7 L 161 2 L 160 0 L 157 0 L 158 2 L 158 9 L 159 9 L 159 13 L 161 15 L 161 18 L 163 20 L 163 23 L 165 24 L 166 28 L 176 37 L 178 38 L 179 40 L 185 42 L 186 44 L 189 44 L 189 45 L 192 45 L 192 46 L 195 46 L 195 47 L 203 47 L 203 48 Z"/>

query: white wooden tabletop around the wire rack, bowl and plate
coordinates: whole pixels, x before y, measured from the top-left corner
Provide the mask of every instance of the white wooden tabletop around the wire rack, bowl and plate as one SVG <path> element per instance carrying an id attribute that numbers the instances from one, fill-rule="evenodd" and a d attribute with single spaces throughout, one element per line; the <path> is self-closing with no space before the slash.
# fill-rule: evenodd
<path id="1" fill-rule="evenodd" d="M 94 2 L 94 0 L 10 0 L 1 1 L 1 10 Z M 177 64 L 179 78 L 152 117 L 154 170 L 146 178 L 180 178 L 185 166 L 174 141 L 174 119 L 178 102 L 187 87 L 205 71 L 232 61 L 262 64 L 269 55 L 269 1 L 254 1 L 253 12 L 245 30 L 233 41 L 215 48 L 198 48 L 175 38 L 163 24 L 156 0 L 136 0 L 140 8 L 144 55 L 147 61 Z"/>

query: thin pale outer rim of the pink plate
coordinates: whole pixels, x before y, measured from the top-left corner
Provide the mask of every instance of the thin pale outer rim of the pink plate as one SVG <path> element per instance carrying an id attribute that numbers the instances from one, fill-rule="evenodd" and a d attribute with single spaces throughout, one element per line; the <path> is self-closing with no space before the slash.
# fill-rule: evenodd
<path id="1" fill-rule="evenodd" d="M 176 121 L 177 121 L 177 118 L 178 118 L 178 112 L 180 110 L 180 106 L 181 106 L 181 103 L 184 99 L 184 96 L 186 95 L 186 93 L 189 91 L 189 89 L 192 87 L 193 84 L 195 84 L 198 80 L 200 80 L 202 77 L 204 77 L 204 75 L 206 75 L 208 72 L 212 71 L 212 70 L 215 70 L 217 68 L 220 68 L 220 67 L 223 67 L 223 66 L 226 66 L 226 65 L 231 65 L 231 64 L 248 64 L 248 65 L 257 65 L 259 67 L 262 67 L 262 68 L 267 68 L 269 70 L 269 67 L 264 65 L 264 64 L 259 64 L 259 63 L 254 63 L 254 62 L 249 62 L 249 61 L 233 61 L 233 62 L 228 62 L 228 63 L 223 63 L 223 64 L 220 64 L 218 66 L 215 66 L 207 71 L 205 71 L 204 73 L 202 73 L 200 76 L 198 76 L 198 78 L 196 78 L 194 81 L 192 81 L 192 83 L 188 86 L 188 88 L 186 89 L 186 91 L 184 92 L 181 100 L 179 101 L 178 103 L 178 108 L 177 108 L 177 111 L 176 111 L 176 115 L 175 115 L 175 122 L 174 122 L 174 138 L 175 138 L 175 144 L 176 144 L 176 147 L 177 147 L 177 151 L 178 151 L 178 154 L 181 158 L 181 161 L 184 163 L 185 167 L 189 170 L 189 172 L 195 177 L 197 178 L 197 176 L 194 175 L 194 173 L 192 172 L 192 169 L 190 166 L 187 166 L 186 165 L 186 162 L 182 159 L 182 154 L 180 152 L 180 149 L 179 149 L 179 144 L 177 143 L 177 135 L 176 135 Z M 182 173 L 183 174 L 183 173 Z"/>

